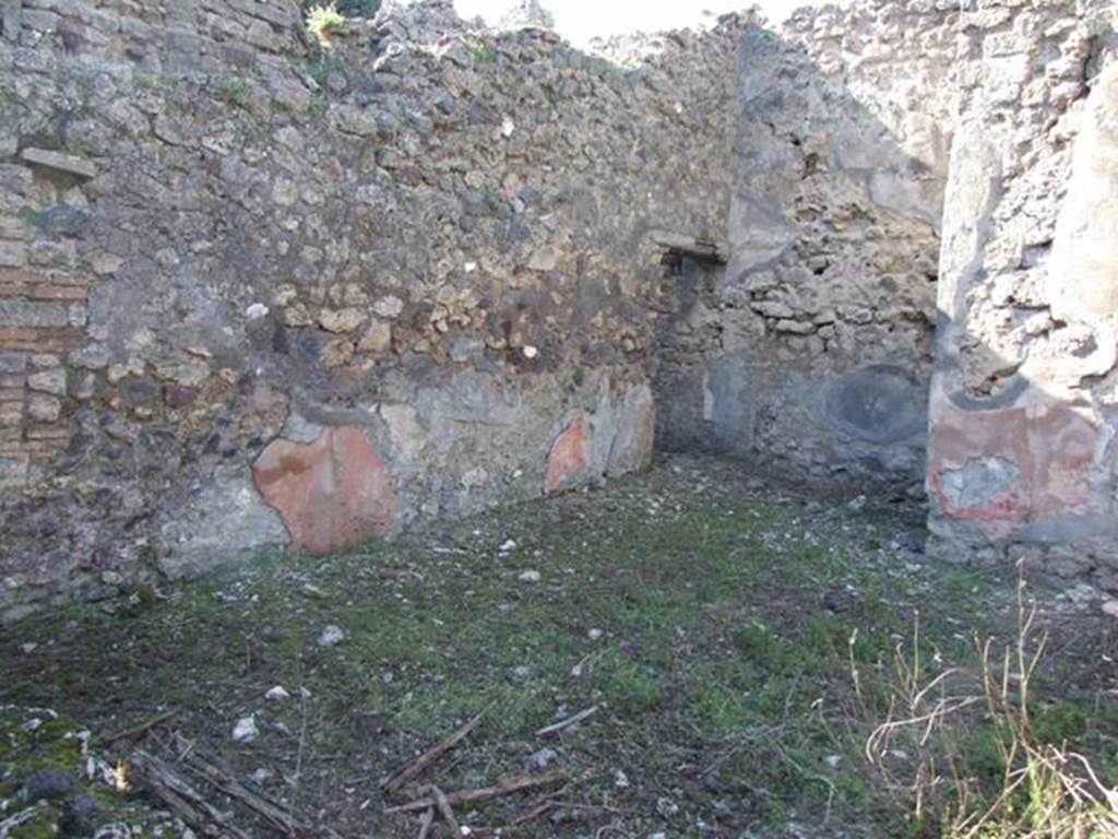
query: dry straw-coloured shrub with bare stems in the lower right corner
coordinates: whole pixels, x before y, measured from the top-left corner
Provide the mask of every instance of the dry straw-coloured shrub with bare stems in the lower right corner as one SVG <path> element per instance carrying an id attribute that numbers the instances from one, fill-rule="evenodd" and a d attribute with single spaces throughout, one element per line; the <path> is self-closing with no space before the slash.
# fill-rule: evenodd
<path id="1" fill-rule="evenodd" d="M 890 798 L 909 809 L 916 835 L 1118 839 L 1118 789 L 1067 743 L 1042 742 L 1033 725 L 1032 691 L 1049 643 L 1036 618 L 1022 582 L 1015 638 L 1004 647 L 976 638 L 976 667 L 927 661 L 919 621 L 909 649 L 898 644 L 885 717 L 865 755 Z M 851 671 L 872 714 L 853 657 Z"/>

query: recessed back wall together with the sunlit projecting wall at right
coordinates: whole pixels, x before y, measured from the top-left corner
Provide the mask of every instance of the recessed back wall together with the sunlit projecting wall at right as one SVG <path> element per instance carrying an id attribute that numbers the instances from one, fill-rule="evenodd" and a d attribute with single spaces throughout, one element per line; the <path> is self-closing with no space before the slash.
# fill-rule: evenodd
<path id="1" fill-rule="evenodd" d="M 1118 592 L 1116 27 L 865 0 L 747 34 L 730 260 L 679 277 L 661 443 L 919 483 L 935 553 Z"/>

